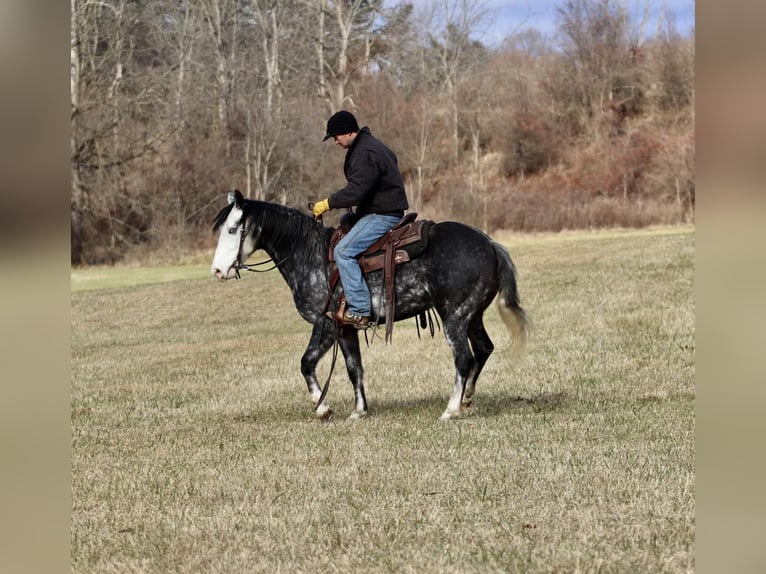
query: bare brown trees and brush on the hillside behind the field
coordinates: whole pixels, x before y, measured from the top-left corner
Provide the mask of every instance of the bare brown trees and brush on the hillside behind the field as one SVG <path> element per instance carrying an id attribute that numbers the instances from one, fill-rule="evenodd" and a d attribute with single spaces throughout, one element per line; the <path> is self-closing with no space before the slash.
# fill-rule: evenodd
<path id="1" fill-rule="evenodd" d="M 339 109 L 397 153 L 423 217 L 694 218 L 694 29 L 651 0 L 562 0 L 555 34 L 519 22 L 496 46 L 481 0 L 71 4 L 74 264 L 209 247 L 233 188 L 306 210 L 345 183 L 322 144 Z"/>

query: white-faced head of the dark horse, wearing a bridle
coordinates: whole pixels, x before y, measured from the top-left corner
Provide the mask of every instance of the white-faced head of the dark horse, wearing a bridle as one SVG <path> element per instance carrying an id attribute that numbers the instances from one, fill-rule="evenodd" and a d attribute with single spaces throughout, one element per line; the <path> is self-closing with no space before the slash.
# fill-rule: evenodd
<path id="1" fill-rule="evenodd" d="M 245 198 L 235 189 L 228 199 L 229 204 L 213 221 L 213 233 L 220 229 L 220 234 L 210 272 L 219 281 L 239 278 L 239 267 L 255 251 L 255 242 L 247 232 Z"/>

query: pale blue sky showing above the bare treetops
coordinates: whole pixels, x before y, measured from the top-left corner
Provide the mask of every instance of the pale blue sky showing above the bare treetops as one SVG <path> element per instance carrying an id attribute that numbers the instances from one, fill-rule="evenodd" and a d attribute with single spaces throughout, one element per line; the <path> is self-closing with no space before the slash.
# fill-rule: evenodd
<path id="1" fill-rule="evenodd" d="M 429 6 L 434 2 L 441 6 L 444 0 L 388 0 L 388 4 L 399 4 L 408 1 L 415 5 L 416 10 Z M 565 0 L 476 0 L 487 11 L 489 18 L 484 34 L 477 34 L 477 39 L 488 46 L 496 46 L 503 38 L 527 28 L 537 28 L 545 36 L 554 36 L 557 28 L 556 8 L 563 5 Z M 656 22 L 663 12 L 673 14 L 675 27 L 681 34 L 687 34 L 694 27 L 695 0 L 623 0 L 628 8 L 633 22 L 641 22 L 644 7 L 649 5 L 650 23 L 646 26 L 646 34 L 651 35 L 656 28 Z M 455 0 L 450 0 L 455 4 Z"/>

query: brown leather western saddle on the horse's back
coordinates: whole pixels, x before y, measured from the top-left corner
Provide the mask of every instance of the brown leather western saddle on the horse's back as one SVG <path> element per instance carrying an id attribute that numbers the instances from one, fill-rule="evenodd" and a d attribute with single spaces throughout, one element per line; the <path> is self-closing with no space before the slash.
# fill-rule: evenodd
<path id="1" fill-rule="evenodd" d="M 414 212 L 406 214 L 390 231 L 357 257 L 362 273 L 367 274 L 383 270 L 384 305 L 386 309 L 385 340 L 387 343 L 391 340 L 391 334 L 394 330 L 396 267 L 422 255 L 428 246 L 428 230 L 433 222 L 426 219 L 417 221 L 417 217 L 418 214 Z M 330 238 L 328 251 L 328 260 L 332 270 L 330 293 L 335 290 L 339 279 L 338 267 L 335 264 L 335 246 L 348 233 L 354 223 L 354 214 L 344 215 L 341 218 L 340 227 L 333 232 Z M 330 297 L 328 296 L 328 305 L 329 301 Z M 344 303 L 345 301 L 342 301 L 339 306 L 338 317 L 343 314 Z"/>

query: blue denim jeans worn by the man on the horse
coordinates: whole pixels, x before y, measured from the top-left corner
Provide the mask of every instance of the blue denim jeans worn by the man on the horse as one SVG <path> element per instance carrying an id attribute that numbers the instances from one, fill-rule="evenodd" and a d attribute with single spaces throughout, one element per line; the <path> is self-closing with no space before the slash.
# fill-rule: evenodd
<path id="1" fill-rule="evenodd" d="M 370 290 L 356 258 L 383 237 L 400 219 L 395 215 L 365 215 L 335 246 L 335 262 L 346 294 L 349 313 L 369 317 L 372 312 Z"/>

